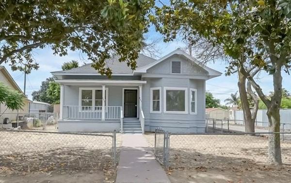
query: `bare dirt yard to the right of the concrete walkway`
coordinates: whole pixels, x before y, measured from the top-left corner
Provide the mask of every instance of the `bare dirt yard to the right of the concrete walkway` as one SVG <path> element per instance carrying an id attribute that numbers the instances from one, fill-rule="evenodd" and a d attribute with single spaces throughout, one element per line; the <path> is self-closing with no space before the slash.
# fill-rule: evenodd
<path id="1" fill-rule="evenodd" d="M 271 166 L 267 137 L 171 135 L 167 173 L 173 183 L 290 183 L 291 143 L 281 146 L 284 165 Z"/>

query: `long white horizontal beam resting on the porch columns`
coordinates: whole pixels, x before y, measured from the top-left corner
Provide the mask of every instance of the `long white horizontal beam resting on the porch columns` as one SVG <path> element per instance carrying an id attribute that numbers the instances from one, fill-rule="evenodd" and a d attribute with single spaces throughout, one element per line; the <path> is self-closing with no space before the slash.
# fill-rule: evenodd
<path id="1" fill-rule="evenodd" d="M 90 84 L 105 84 L 105 85 L 142 85 L 146 81 L 141 80 L 56 80 L 57 83 L 67 85 L 90 85 Z"/>

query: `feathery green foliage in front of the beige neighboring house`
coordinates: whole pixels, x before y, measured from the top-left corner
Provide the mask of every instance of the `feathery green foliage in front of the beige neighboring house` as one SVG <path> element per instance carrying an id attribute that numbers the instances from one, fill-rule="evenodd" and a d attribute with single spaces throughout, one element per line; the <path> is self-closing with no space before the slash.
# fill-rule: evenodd
<path id="1" fill-rule="evenodd" d="M 11 110 L 20 110 L 24 106 L 24 95 L 0 82 L 0 104 Z"/>

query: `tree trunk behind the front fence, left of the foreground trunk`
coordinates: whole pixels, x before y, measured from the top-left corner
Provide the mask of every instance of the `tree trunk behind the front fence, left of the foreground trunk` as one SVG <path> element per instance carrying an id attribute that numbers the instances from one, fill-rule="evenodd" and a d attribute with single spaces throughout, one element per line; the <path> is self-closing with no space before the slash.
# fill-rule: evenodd
<path id="1" fill-rule="evenodd" d="M 243 74 L 240 72 L 240 69 L 238 71 L 239 75 L 239 91 L 240 91 L 240 99 L 242 102 L 242 111 L 243 111 L 243 117 L 244 117 L 244 129 L 246 133 L 254 133 L 255 132 L 255 119 L 252 119 L 252 113 L 250 110 L 250 106 L 247 100 L 247 92 L 245 87 L 246 77 L 243 76 Z"/>

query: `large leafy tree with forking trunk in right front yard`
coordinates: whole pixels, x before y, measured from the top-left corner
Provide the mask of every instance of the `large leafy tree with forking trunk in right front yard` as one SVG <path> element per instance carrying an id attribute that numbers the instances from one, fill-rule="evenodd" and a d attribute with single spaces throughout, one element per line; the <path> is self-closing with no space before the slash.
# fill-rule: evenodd
<path id="1" fill-rule="evenodd" d="M 165 35 L 165 41 L 179 34 L 187 39 L 198 35 L 214 47 L 222 48 L 230 58 L 226 74 L 238 72 L 242 108 L 244 116 L 249 117 L 246 120 L 253 119 L 247 102 L 247 87 L 253 87 L 267 106 L 269 131 L 275 132 L 268 138 L 272 164 L 282 164 L 277 133 L 280 130 L 281 72 L 283 69 L 289 72 L 291 55 L 291 23 L 286 17 L 290 15 L 291 1 L 281 1 L 284 3 L 278 5 L 276 0 L 171 0 L 170 5 L 156 7 L 155 17 L 150 17 L 157 30 Z M 254 79 L 260 70 L 273 77 L 274 96 L 271 99 Z M 251 97 L 256 98 L 255 95 Z"/>

